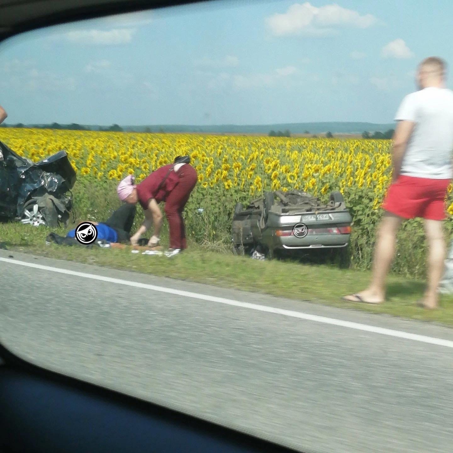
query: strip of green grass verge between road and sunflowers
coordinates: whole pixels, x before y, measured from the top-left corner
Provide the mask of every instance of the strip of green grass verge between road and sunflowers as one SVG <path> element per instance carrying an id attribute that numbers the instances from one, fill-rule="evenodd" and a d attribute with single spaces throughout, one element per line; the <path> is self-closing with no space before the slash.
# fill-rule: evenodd
<path id="1" fill-rule="evenodd" d="M 114 269 L 242 289 L 293 300 L 335 307 L 354 308 L 371 313 L 387 313 L 408 319 L 432 321 L 453 326 L 453 297 L 442 296 L 438 310 L 427 311 L 415 305 L 422 296 L 423 280 L 399 275 L 388 279 L 386 303 L 374 306 L 344 303 L 340 297 L 363 289 L 370 273 L 340 269 L 337 265 L 307 265 L 294 260 L 251 260 L 225 251 L 211 251 L 191 244 L 182 255 L 168 259 L 132 254 L 129 250 L 78 248 L 46 245 L 49 230 L 18 223 L 0 224 L 0 241 L 12 252 L 20 251 L 51 258 L 96 264 Z M 58 234 L 64 235 L 60 230 Z M 222 250 L 222 249 L 221 249 Z"/>

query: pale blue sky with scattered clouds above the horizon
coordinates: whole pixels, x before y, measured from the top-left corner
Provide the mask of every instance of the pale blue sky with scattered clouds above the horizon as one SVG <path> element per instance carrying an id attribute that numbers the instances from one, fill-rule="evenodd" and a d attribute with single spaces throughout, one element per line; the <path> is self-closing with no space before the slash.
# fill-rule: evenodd
<path id="1" fill-rule="evenodd" d="M 390 123 L 420 60 L 453 62 L 451 17 L 450 0 L 221 0 L 59 25 L 0 44 L 0 105 L 9 124 Z"/>

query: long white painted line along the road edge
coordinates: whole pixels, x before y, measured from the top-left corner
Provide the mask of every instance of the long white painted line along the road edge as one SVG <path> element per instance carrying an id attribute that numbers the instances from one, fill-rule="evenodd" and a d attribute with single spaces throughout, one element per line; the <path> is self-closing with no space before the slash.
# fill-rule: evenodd
<path id="1" fill-rule="evenodd" d="M 153 284 L 131 282 L 122 279 L 115 279 L 112 277 L 104 277 L 103 275 L 87 274 L 85 272 L 78 272 L 76 270 L 59 269 L 57 267 L 45 266 L 41 264 L 27 263 L 25 261 L 12 260 L 10 258 L 0 257 L 0 261 L 5 263 L 16 264 L 20 266 L 33 267 L 34 269 L 48 270 L 50 272 L 57 272 L 59 274 L 74 275 L 91 280 L 101 280 L 104 282 L 122 284 L 132 286 L 134 288 L 150 289 L 151 291 L 158 291 L 160 293 L 175 294 L 177 296 L 190 297 L 192 299 L 207 300 L 209 302 L 217 302 L 218 304 L 227 304 L 234 307 L 249 308 L 251 310 L 258 310 L 267 313 L 275 313 L 291 318 L 305 319 L 307 321 L 314 321 L 316 323 L 331 324 L 339 327 L 346 327 L 349 329 L 361 330 L 363 332 L 379 333 L 390 337 L 404 338 L 406 340 L 413 340 L 423 343 L 434 344 L 437 346 L 445 346 L 453 348 L 453 341 L 444 340 L 442 338 L 427 337 L 425 335 L 418 335 L 416 333 L 402 332 L 400 330 L 386 329 L 382 327 L 369 326 L 367 324 L 352 323 L 351 321 L 343 321 L 342 319 L 326 318 L 308 313 L 297 312 L 293 310 L 286 310 L 284 308 L 269 307 L 267 305 L 250 304 L 248 302 L 240 302 L 233 299 L 225 299 L 223 297 L 209 296 L 207 294 L 192 293 L 190 291 L 183 291 L 180 289 L 165 288 L 163 286 L 156 286 Z"/>

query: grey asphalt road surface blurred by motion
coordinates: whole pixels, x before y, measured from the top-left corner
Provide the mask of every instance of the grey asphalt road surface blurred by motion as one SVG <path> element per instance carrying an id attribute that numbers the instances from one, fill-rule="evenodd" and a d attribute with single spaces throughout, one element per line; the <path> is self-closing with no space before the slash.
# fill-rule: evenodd
<path id="1" fill-rule="evenodd" d="M 0 258 L 8 255 L 0 251 Z M 206 295 L 203 300 L 0 260 L 1 341 L 40 366 L 300 451 L 452 452 L 453 348 L 209 299 L 450 341 L 451 329 L 12 255 Z"/>

